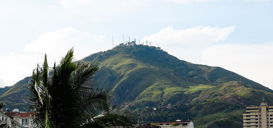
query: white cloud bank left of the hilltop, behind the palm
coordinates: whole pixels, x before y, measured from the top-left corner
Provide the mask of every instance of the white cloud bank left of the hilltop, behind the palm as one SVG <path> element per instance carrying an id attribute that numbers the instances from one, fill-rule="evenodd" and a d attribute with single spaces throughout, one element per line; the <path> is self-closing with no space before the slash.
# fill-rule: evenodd
<path id="1" fill-rule="evenodd" d="M 21 51 L 0 55 L 0 86 L 11 86 L 26 76 L 30 76 L 37 63 L 43 62 L 48 55 L 49 66 L 74 46 L 74 58 L 82 59 L 92 53 L 111 48 L 111 43 L 104 41 L 107 35 L 82 32 L 74 28 L 64 28 L 41 34 L 36 40 L 25 45 Z"/>

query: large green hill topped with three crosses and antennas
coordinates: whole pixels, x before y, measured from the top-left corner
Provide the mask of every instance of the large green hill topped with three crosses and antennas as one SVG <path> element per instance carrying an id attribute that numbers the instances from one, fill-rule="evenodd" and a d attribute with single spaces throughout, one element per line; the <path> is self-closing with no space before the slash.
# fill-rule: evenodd
<path id="1" fill-rule="evenodd" d="M 273 104 L 271 89 L 220 67 L 179 60 L 159 47 L 120 45 L 84 60 L 101 64 L 96 82 L 112 90 L 114 104 L 127 105 L 140 124 L 190 119 L 196 127 L 242 127 L 246 106 L 259 105 L 262 96 Z M 6 107 L 29 105 L 23 100 L 26 79 L 0 88 Z"/>

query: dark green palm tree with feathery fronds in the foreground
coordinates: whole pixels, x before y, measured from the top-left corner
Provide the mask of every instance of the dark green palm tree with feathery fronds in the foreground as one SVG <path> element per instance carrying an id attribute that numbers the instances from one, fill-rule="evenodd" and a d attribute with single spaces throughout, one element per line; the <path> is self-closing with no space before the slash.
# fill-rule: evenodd
<path id="1" fill-rule="evenodd" d="M 60 63 L 50 68 L 45 61 L 33 71 L 29 81 L 29 109 L 37 128 L 136 127 L 130 112 L 112 106 L 111 91 L 98 88 L 96 62 L 74 61 L 73 48 Z"/>

